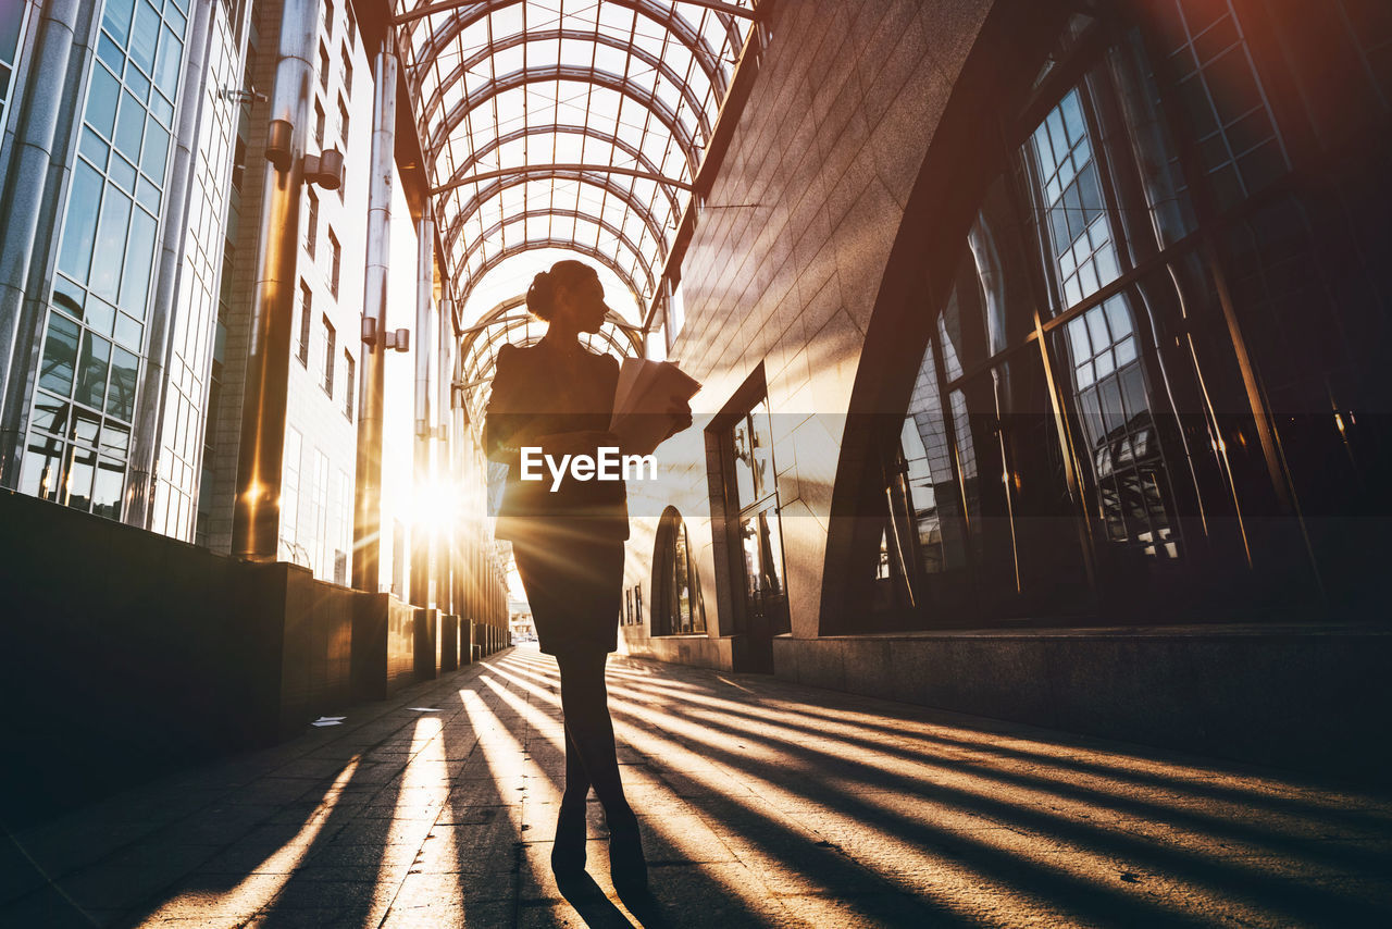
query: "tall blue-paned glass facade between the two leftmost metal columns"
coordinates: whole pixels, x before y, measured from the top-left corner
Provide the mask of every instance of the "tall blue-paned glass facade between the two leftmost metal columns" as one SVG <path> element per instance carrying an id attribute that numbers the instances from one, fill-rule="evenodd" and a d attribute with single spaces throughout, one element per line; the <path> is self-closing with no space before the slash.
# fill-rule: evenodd
<path id="1" fill-rule="evenodd" d="M 111 518 L 124 513 L 188 10 L 102 10 L 19 472 L 24 493 Z"/>

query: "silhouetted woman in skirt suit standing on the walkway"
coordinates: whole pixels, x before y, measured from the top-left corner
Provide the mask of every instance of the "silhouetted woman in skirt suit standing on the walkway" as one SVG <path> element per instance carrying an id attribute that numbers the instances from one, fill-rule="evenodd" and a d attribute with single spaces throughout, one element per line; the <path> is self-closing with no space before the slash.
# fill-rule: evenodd
<path id="1" fill-rule="evenodd" d="M 521 479 L 523 447 L 540 447 L 560 461 L 562 454 L 597 455 L 600 447 L 619 446 L 607 432 L 618 361 L 579 343 L 580 333 L 600 331 L 608 306 L 599 274 L 575 260 L 537 274 L 526 305 L 550 325 L 535 345 L 500 348 L 483 443 L 490 460 L 511 465 L 496 535 L 512 542 L 540 648 L 561 669 L 565 793 L 551 868 L 558 877 L 585 869 L 585 802 L 593 787 L 610 829 L 614 884 L 638 889 L 647 883 L 647 864 L 619 781 L 604 688 L 604 663 L 618 642 L 626 490 L 622 481 L 567 475 L 553 492 L 546 467 L 543 481 Z M 689 408 L 672 412 L 672 432 L 690 425 Z"/>

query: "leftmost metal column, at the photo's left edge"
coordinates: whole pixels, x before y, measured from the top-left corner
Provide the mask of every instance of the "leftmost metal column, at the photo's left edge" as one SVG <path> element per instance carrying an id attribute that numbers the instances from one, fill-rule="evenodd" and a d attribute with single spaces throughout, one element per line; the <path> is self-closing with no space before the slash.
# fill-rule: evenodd
<path id="1" fill-rule="evenodd" d="M 74 102 L 75 93 L 54 92 L 53 86 L 54 81 L 61 82 L 67 77 L 81 7 L 78 0 L 50 0 L 39 19 L 14 139 L 15 153 L 3 191 L 10 203 L 4 221 L 0 221 L 0 486 L 6 487 L 15 487 L 19 482 L 19 447 L 24 444 L 29 401 L 29 390 L 10 383 L 14 359 L 36 351 L 49 304 L 47 294 L 25 301 L 25 290 L 43 199 L 53 189 L 49 185 L 53 146 L 63 110 L 82 106 L 81 100 Z M 70 169 L 64 167 L 63 175 L 68 173 Z"/>

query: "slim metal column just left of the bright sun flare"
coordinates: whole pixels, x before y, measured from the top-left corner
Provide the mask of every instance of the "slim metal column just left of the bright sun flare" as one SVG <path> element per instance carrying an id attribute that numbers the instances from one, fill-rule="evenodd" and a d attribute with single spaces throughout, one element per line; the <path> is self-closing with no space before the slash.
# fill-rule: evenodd
<path id="1" fill-rule="evenodd" d="M 358 469 L 354 481 L 352 585 L 381 586 L 381 421 L 386 389 L 387 263 L 391 260 L 391 191 L 397 130 L 397 54 L 391 38 L 377 52 L 372 102 L 372 174 L 367 185 L 367 256 L 363 280 L 362 382 L 358 396 Z M 402 553 L 394 553 L 401 557 Z"/>

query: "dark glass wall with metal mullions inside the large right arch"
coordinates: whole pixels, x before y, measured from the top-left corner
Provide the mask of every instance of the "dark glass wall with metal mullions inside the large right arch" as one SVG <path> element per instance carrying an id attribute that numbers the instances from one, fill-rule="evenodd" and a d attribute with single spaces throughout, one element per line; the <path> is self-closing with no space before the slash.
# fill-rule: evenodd
<path id="1" fill-rule="evenodd" d="M 1006 125 L 883 443 L 871 627 L 1281 616 L 1366 591 L 1386 547 L 1366 517 L 1388 513 L 1392 17 L 1243 10 L 1077 15 Z M 1350 63 L 1332 88 L 1329 60 Z"/>

